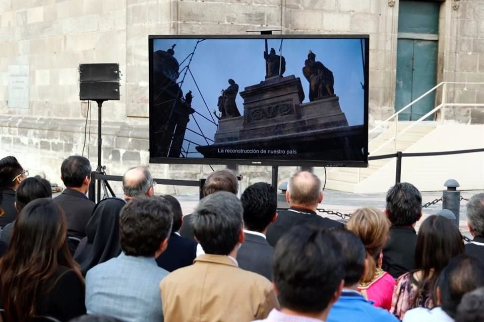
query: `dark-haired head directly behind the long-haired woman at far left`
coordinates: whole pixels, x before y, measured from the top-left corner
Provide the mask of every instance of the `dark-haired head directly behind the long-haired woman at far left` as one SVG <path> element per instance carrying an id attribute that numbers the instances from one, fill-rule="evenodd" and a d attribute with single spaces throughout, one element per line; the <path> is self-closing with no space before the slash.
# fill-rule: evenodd
<path id="1" fill-rule="evenodd" d="M 50 182 L 39 176 L 23 180 L 15 193 L 15 205 L 20 212 L 32 200 L 52 198 Z"/>

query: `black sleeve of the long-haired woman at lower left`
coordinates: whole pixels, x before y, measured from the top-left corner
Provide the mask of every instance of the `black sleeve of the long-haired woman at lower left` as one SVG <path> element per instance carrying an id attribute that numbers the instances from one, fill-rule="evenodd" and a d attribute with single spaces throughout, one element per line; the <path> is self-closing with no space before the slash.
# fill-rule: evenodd
<path id="1" fill-rule="evenodd" d="M 56 297 L 57 310 L 68 321 L 86 314 L 84 282 L 72 270 L 64 273 L 52 290 Z"/>

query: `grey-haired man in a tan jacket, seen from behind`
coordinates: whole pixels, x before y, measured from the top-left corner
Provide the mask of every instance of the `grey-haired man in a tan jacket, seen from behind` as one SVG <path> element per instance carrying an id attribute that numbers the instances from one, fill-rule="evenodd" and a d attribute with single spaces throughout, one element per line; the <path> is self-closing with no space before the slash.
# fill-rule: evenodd
<path id="1" fill-rule="evenodd" d="M 242 214 L 232 193 L 217 192 L 200 200 L 191 225 L 206 254 L 161 281 L 165 320 L 244 322 L 265 318 L 279 306 L 267 278 L 238 268 Z"/>

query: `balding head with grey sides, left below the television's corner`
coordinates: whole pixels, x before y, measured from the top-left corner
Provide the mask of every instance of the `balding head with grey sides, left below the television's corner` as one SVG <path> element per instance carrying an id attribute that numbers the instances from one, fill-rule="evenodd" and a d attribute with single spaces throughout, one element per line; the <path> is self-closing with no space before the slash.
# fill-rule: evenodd
<path id="1" fill-rule="evenodd" d="M 153 194 L 153 178 L 147 167 L 135 167 L 123 176 L 123 191 L 126 196 L 135 198 Z"/>

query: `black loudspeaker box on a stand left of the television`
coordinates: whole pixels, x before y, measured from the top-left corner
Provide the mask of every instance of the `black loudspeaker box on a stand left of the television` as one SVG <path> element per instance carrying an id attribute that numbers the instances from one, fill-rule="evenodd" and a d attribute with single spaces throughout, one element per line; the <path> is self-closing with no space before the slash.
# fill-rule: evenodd
<path id="1" fill-rule="evenodd" d="M 79 64 L 79 97 L 84 100 L 119 100 L 119 64 Z"/>

